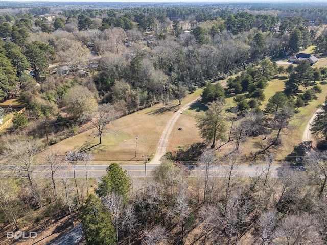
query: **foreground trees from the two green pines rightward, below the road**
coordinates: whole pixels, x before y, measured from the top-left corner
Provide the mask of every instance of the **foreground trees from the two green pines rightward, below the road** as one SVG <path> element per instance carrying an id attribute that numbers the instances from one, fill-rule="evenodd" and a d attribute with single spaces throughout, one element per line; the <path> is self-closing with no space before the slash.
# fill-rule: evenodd
<path id="1" fill-rule="evenodd" d="M 96 194 L 80 208 L 87 243 L 323 244 L 325 175 L 319 175 L 326 169 L 325 152 L 308 155 L 307 172 L 284 166 L 271 178 L 269 158 L 256 177 L 238 181 L 231 177 L 242 158 L 236 151 L 219 160 L 205 150 L 199 158 L 205 171 L 198 176 L 166 161 L 152 178 L 133 184 L 118 165 L 110 165 Z M 217 165 L 225 168 L 219 180 L 210 178 Z"/>

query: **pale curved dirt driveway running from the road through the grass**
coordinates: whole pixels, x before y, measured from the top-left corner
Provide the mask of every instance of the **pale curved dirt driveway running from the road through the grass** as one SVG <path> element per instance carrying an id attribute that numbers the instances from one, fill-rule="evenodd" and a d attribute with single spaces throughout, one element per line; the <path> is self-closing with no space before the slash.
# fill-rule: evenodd
<path id="1" fill-rule="evenodd" d="M 188 104 L 185 104 L 183 107 L 181 107 L 177 112 L 175 112 L 175 114 L 172 116 L 172 118 L 170 118 L 170 120 L 168 121 L 164 132 L 162 132 L 159 143 L 158 143 L 158 148 L 157 151 L 154 155 L 154 157 L 151 160 L 151 164 L 161 164 L 161 158 L 165 156 L 166 154 L 166 149 L 167 149 L 167 144 L 168 144 L 168 139 L 170 136 L 170 133 L 173 130 L 173 127 L 176 123 L 176 121 L 178 120 L 178 118 L 180 117 L 181 114 L 183 114 L 184 110 L 187 110 L 190 105 L 194 102 L 196 102 L 199 98 L 189 102 Z"/>

